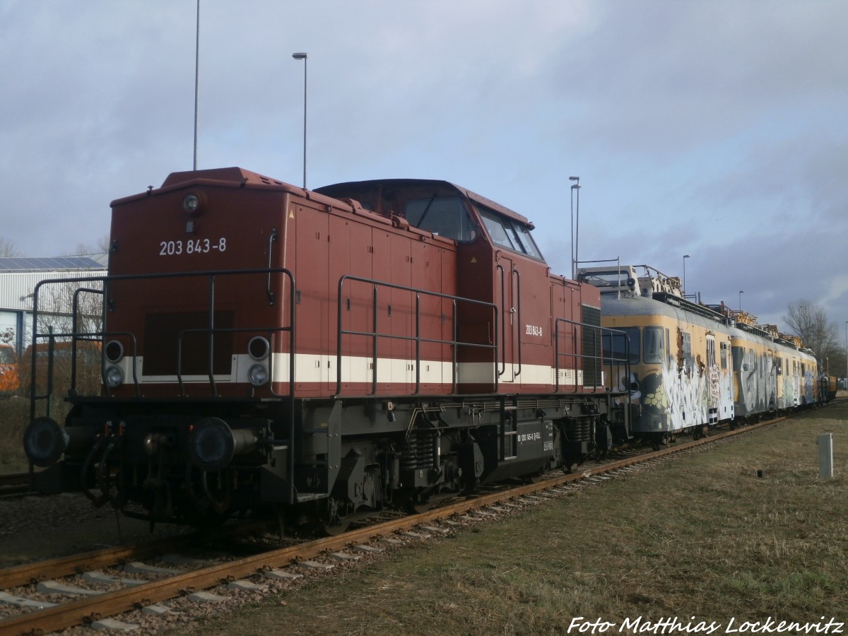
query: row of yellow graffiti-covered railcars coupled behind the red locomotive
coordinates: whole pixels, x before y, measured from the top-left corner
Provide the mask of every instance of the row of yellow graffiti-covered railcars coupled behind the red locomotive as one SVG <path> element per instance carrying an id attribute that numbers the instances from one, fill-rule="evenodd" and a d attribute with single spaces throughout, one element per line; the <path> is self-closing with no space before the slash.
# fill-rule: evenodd
<path id="1" fill-rule="evenodd" d="M 623 334 L 610 334 L 610 354 L 622 355 L 628 341 L 630 375 L 611 379 L 611 387 L 629 388 L 639 404 L 633 432 L 697 436 L 721 421 L 816 401 L 815 355 L 776 327 L 691 302 L 677 278 L 648 265 L 585 268 L 578 280 L 600 288 L 602 324 Z"/>

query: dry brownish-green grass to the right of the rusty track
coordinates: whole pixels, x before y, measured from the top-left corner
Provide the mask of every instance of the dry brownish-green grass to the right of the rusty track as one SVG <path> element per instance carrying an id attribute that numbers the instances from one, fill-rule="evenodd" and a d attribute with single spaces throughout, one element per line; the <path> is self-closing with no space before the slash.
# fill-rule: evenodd
<path id="1" fill-rule="evenodd" d="M 834 436 L 828 480 L 823 432 Z M 724 633 L 731 619 L 845 621 L 846 471 L 848 405 L 834 404 L 180 632 L 567 633 L 583 616 L 614 623 L 607 633 L 671 617 Z"/>

